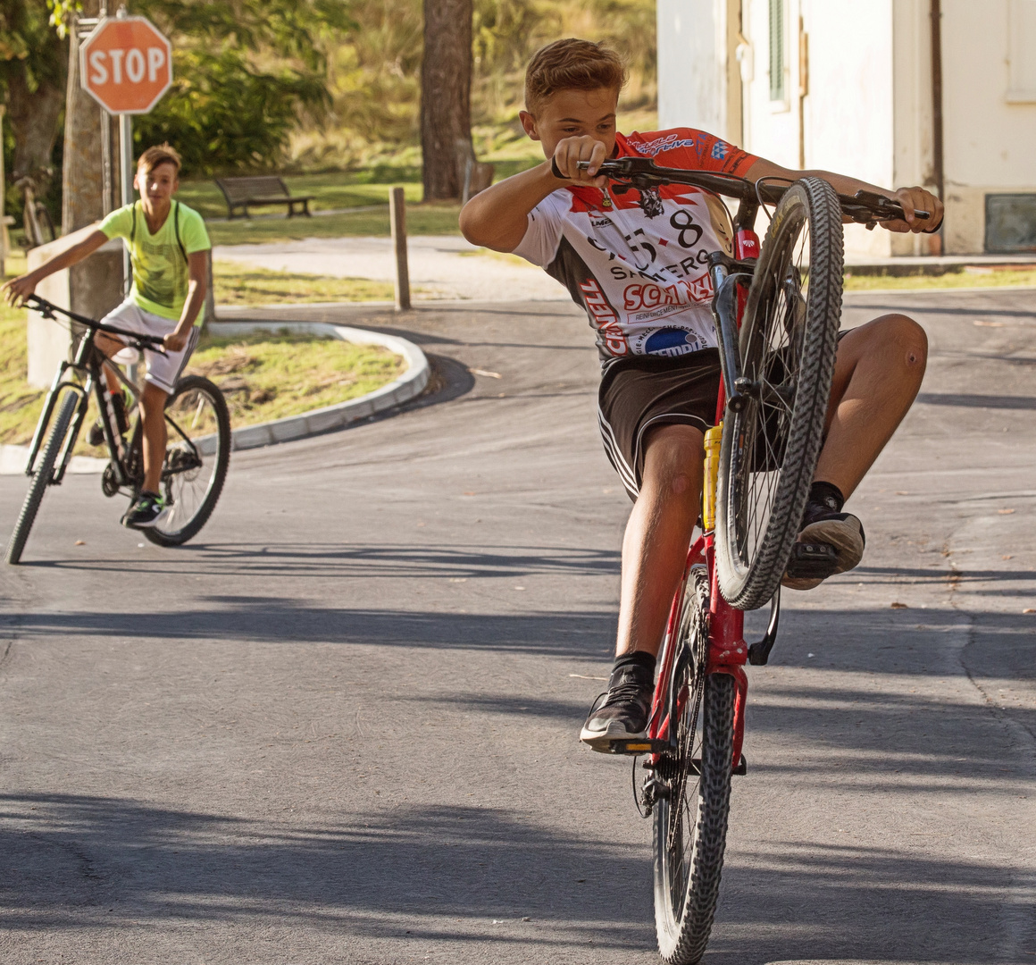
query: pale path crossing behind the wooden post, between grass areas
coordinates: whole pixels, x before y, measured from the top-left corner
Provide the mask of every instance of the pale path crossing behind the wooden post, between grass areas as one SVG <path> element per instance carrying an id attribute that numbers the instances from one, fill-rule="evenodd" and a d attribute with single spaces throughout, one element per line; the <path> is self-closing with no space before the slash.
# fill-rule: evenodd
<path id="1" fill-rule="evenodd" d="M 407 254 L 415 301 L 526 302 L 569 297 L 558 282 L 517 255 L 500 255 L 477 248 L 459 235 L 409 237 Z M 220 245 L 213 249 L 212 257 L 274 271 L 335 278 L 387 282 L 396 278 L 392 239 L 386 237 Z"/>

